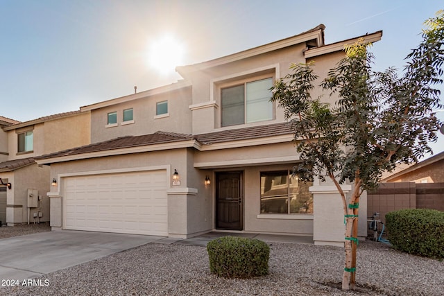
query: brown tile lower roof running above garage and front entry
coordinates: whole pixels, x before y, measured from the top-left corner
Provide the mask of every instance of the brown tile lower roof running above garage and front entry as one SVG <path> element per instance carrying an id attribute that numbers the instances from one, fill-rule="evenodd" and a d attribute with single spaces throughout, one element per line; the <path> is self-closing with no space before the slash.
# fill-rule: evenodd
<path id="1" fill-rule="evenodd" d="M 203 144 L 221 143 L 228 141 L 240 141 L 247 139 L 257 139 L 264 137 L 273 137 L 282 134 L 291 134 L 288 123 L 275 123 L 273 125 L 260 125 L 250 128 L 238 128 L 232 130 L 223 130 L 220 132 L 209 132 L 207 134 L 178 134 L 174 132 L 158 131 L 153 134 L 144 134 L 142 136 L 127 136 L 111 139 L 100 143 L 93 143 L 86 146 L 71 148 L 57 153 L 42 155 L 35 159 L 48 159 L 53 157 L 64 157 L 69 155 L 80 155 L 83 153 L 94 153 L 105 150 L 116 150 L 121 148 L 132 148 L 139 146 L 149 146 L 160 143 L 174 143 L 180 141 L 196 140 Z"/>

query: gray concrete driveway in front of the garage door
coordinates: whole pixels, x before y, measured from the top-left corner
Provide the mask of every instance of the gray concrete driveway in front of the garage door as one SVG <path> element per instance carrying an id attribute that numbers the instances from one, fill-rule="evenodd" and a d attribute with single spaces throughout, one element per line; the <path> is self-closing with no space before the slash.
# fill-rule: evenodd
<path id="1" fill-rule="evenodd" d="M 73 230 L 3 238 L 0 239 L 0 280 L 32 279 L 162 238 Z"/>

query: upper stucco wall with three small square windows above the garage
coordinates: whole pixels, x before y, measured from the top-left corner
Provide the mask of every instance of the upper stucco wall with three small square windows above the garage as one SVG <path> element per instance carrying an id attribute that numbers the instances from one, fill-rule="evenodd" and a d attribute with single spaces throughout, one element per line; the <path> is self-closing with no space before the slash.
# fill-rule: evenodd
<path id="1" fill-rule="evenodd" d="M 168 101 L 169 116 L 156 117 L 156 103 Z M 145 98 L 101 107 L 91 112 L 91 143 L 123 136 L 139 136 L 157 131 L 191 133 L 191 87 L 173 92 L 147 96 Z M 123 110 L 133 108 L 134 123 L 123 122 Z M 117 126 L 106 127 L 108 113 L 117 112 Z"/>

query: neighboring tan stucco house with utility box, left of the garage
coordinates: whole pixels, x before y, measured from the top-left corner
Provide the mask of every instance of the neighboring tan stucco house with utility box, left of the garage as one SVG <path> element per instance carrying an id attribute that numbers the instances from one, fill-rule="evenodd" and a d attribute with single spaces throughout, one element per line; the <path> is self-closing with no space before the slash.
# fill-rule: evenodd
<path id="1" fill-rule="evenodd" d="M 34 158 L 89 144 L 89 112 L 67 112 L 20 123 L 0 117 L 0 220 L 13 226 L 49 221 L 50 168 Z"/>

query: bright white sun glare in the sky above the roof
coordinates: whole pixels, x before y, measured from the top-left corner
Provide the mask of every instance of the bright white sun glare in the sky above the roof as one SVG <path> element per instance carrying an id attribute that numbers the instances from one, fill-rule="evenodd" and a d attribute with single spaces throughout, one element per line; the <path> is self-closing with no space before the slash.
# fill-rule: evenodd
<path id="1" fill-rule="evenodd" d="M 183 44 L 171 35 L 164 35 L 150 44 L 148 62 L 162 75 L 168 75 L 182 64 L 183 55 Z"/>

